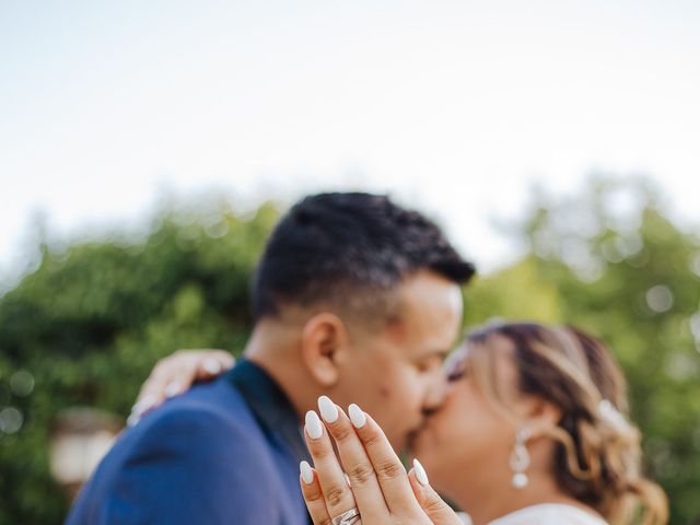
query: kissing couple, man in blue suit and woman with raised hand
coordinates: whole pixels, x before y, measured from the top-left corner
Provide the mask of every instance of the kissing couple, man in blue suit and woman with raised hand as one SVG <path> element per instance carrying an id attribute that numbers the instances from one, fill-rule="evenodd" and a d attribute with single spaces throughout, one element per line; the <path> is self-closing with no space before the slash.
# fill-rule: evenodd
<path id="1" fill-rule="evenodd" d="M 156 365 L 67 524 L 467 520 L 439 493 L 476 525 L 665 523 L 602 341 L 502 323 L 452 351 L 472 273 L 387 197 L 302 199 L 259 260 L 243 359 Z"/>

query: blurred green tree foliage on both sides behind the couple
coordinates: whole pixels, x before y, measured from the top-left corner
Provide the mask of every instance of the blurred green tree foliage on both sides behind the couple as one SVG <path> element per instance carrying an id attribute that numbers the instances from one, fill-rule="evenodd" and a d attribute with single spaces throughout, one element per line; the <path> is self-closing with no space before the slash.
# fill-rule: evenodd
<path id="1" fill-rule="evenodd" d="M 510 230 L 525 255 L 465 290 L 465 318 L 570 323 L 603 337 L 629 378 L 649 474 L 669 494 L 672 523 L 687 524 L 700 516 L 700 240 L 656 195 L 603 179 L 576 199 L 536 194 Z M 0 412 L 0 524 L 62 522 L 68 503 L 48 468 L 60 410 L 126 417 L 160 357 L 240 351 L 249 278 L 277 217 L 270 205 L 173 213 L 142 241 L 44 249 L 0 299 L 0 410 L 23 417 L 4 432 L 12 418 Z"/>

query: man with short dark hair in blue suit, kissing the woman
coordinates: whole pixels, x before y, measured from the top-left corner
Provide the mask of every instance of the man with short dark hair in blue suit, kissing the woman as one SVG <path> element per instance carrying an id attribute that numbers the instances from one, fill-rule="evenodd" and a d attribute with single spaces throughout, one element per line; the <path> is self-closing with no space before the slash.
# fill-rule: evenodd
<path id="1" fill-rule="evenodd" d="M 307 524 L 305 412 L 324 394 L 355 402 L 405 446 L 442 402 L 472 273 L 434 223 L 386 197 L 302 199 L 258 265 L 245 358 L 126 431 L 67 523 Z"/>

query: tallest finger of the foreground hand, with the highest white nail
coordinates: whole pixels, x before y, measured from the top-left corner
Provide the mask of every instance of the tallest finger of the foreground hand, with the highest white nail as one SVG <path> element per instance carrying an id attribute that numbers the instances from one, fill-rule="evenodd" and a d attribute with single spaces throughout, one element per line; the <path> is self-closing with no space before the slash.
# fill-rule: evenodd
<path id="1" fill-rule="evenodd" d="M 342 467 L 350 480 L 363 522 L 387 522 L 390 514 L 384 501 L 382 488 L 372 462 L 370 462 L 350 419 L 340 407 L 326 396 L 318 398 L 318 409 L 326 423 L 326 429 L 338 448 Z"/>

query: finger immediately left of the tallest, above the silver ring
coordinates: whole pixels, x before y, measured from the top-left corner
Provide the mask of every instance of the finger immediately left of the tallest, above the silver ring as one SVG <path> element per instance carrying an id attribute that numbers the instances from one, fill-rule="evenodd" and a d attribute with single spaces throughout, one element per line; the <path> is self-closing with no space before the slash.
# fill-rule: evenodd
<path id="1" fill-rule="evenodd" d="M 338 516 L 350 509 L 354 509 L 355 502 L 352 491 L 348 486 L 342 468 L 332 450 L 330 438 L 326 432 L 318 415 L 310 410 L 306 412 L 305 438 L 311 457 L 314 458 L 314 467 L 324 493 L 326 509 L 330 516 Z"/>

